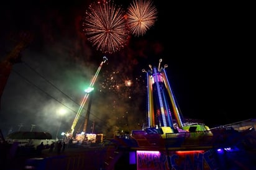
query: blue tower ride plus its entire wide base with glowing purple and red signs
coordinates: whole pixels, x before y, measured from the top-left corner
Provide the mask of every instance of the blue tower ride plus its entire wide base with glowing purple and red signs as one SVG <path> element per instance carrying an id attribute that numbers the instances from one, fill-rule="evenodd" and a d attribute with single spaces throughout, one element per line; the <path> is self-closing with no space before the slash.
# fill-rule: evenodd
<path id="1" fill-rule="evenodd" d="M 185 123 L 167 79 L 165 68 L 149 66 L 147 73 L 147 127 L 116 136 L 118 150 L 129 150 L 129 169 L 255 169 L 255 144 L 248 134 L 232 128 L 210 130 L 203 123 Z M 179 133 L 174 133 L 177 123 Z M 256 143 L 256 142 L 255 142 Z M 114 156 L 113 156 L 114 157 Z M 128 164 L 128 163 L 127 163 Z"/>

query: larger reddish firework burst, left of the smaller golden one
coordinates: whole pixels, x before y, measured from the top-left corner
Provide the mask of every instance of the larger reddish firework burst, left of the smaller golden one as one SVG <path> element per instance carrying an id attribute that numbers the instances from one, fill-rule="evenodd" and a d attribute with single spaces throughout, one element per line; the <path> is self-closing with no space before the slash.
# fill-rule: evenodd
<path id="1" fill-rule="evenodd" d="M 89 42 L 103 53 L 115 53 L 126 45 L 129 38 L 125 13 L 109 0 L 89 5 L 83 20 L 83 31 Z"/>

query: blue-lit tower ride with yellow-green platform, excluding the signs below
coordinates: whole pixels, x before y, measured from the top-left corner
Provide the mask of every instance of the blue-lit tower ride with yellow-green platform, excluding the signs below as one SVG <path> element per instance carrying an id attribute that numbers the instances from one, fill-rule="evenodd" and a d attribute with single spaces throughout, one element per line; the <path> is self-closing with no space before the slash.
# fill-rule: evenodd
<path id="1" fill-rule="evenodd" d="M 162 59 L 158 67 L 149 65 L 148 71 L 142 69 L 147 74 L 147 127 L 132 131 L 136 147 L 166 149 L 171 144 L 171 149 L 176 144 L 180 150 L 211 148 L 213 133 L 204 123 L 185 122 L 165 71 L 168 65 L 162 67 L 161 63 Z"/>

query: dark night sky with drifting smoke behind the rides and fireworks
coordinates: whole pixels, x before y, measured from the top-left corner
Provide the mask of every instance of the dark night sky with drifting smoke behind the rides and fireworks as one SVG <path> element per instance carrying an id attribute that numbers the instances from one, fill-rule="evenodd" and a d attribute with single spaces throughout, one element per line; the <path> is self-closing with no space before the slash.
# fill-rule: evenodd
<path id="1" fill-rule="evenodd" d="M 70 130 L 103 56 L 94 84 L 87 131 L 113 135 L 145 123 L 149 65 L 168 65 L 168 78 L 185 118 L 209 127 L 255 118 L 255 26 L 248 4 L 153 1 L 157 20 L 141 37 L 112 54 L 96 50 L 81 21 L 93 1 L 9 1 L 1 5 L 0 59 L 21 35 L 32 37 L 12 66 L 1 96 L 0 129 Z M 127 8 L 132 1 L 114 1 Z M 9 4 L 8 4 L 9 3 Z M 248 7 L 248 8 L 247 8 Z M 126 81 L 132 81 L 127 86 Z M 59 115 L 59 110 L 66 110 Z M 76 125 L 83 130 L 88 102 Z M 94 123 L 94 128 L 93 127 Z M 21 126 L 22 125 L 22 126 Z"/>

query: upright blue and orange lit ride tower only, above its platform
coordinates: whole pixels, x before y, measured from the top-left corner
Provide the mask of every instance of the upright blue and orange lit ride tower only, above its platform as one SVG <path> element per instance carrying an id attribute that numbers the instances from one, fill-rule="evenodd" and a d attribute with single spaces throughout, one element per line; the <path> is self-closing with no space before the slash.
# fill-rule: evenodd
<path id="1" fill-rule="evenodd" d="M 147 128 L 150 127 L 171 127 L 177 123 L 180 128 L 184 125 L 183 115 L 180 112 L 175 95 L 168 81 L 165 68 L 149 65 L 147 73 Z"/>

